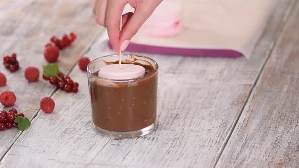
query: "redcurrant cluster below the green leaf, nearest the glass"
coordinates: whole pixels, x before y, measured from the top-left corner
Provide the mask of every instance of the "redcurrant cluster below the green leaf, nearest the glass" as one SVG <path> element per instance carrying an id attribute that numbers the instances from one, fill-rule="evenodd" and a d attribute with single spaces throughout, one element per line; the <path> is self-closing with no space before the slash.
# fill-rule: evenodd
<path id="1" fill-rule="evenodd" d="M 43 78 L 45 80 L 49 80 L 51 85 L 57 86 L 57 88 L 64 90 L 67 93 L 70 93 L 70 92 L 77 93 L 78 92 L 79 83 L 73 82 L 69 76 L 64 75 L 62 72 L 59 72 L 58 75 L 56 75 L 56 77 L 49 78 L 49 77 L 43 75 Z"/>

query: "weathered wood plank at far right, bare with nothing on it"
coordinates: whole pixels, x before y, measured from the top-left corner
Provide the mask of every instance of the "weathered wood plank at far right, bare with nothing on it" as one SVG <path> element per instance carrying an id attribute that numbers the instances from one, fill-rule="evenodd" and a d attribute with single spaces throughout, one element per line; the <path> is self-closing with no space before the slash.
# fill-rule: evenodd
<path id="1" fill-rule="evenodd" d="M 216 167 L 299 166 L 299 2 Z"/>

